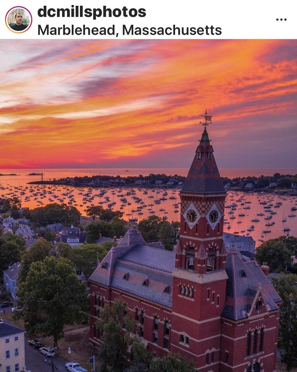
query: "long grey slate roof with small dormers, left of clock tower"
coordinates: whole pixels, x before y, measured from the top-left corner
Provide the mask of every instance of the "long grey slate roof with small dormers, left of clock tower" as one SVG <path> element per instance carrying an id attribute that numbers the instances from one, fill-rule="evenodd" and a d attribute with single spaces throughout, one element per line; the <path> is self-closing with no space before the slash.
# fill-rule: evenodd
<path id="1" fill-rule="evenodd" d="M 130 229 L 89 280 L 171 308 L 174 263 L 174 251 L 148 246 L 138 230 Z M 164 292 L 168 287 L 169 293 Z"/>

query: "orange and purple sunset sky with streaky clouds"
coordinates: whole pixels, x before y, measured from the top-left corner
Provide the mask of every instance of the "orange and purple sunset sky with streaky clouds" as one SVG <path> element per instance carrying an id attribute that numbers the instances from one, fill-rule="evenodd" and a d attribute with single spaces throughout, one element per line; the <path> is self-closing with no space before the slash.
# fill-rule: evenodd
<path id="1" fill-rule="evenodd" d="M 0 40 L 1 169 L 297 168 L 297 40 Z"/>

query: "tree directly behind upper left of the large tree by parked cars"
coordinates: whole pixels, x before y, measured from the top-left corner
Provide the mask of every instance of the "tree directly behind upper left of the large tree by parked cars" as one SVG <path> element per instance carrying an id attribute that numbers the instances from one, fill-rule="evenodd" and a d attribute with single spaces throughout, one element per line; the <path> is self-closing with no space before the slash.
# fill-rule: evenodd
<path id="1" fill-rule="evenodd" d="M 22 266 L 19 270 L 18 282 L 25 282 L 27 274 L 30 270 L 32 262 L 43 261 L 49 256 L 50 250 L 53 248 L 52 243 L 43 239 L 36 241 L 29 250 L 25 251 L 22 259 Z"/>

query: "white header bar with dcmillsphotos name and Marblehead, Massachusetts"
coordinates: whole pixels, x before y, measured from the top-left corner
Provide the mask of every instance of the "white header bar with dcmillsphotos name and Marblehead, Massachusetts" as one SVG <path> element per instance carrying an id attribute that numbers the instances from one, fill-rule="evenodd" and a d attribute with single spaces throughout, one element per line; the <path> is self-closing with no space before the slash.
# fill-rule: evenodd
<path id="1" fill-rule="evenodd" d="M 0 11 L 2 39 L 297 38 L 292 0 L 25 0 L 2 1 Z"/>

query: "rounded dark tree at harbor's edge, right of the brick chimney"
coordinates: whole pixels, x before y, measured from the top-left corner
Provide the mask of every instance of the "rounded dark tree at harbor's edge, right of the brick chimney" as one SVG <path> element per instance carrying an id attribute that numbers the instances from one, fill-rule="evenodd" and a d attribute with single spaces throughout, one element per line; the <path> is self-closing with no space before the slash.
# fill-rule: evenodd
<path id="1" fill-rule="evenodd" d="M 272 272 L 278 266 L 290 266 L 292 262 L 290 250 L 279 238 L 270 239 L 262 243 L 256 251 L 255 259 L 261 265 L 263 262 L 267 262 Z"/>

